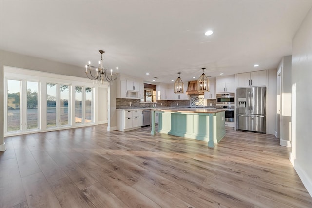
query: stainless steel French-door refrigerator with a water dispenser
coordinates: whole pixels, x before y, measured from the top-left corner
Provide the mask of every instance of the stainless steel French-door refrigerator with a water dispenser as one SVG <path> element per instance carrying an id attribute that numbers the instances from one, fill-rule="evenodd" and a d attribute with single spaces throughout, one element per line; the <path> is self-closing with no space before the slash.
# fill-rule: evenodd
<path id="1" fill-rule="evenodd" d="M 237 88 L 236 130 L 266 132 L 266 87 Z"/>

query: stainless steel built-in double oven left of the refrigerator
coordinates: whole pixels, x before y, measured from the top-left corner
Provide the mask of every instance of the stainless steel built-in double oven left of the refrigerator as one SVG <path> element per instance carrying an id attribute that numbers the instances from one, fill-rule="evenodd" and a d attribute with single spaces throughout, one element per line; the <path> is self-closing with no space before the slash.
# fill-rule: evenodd
<path id="1" fill-rule="evenodd" d="M 234 127 L 235 93 L 217 93 L 216 109 L 224 109 L 226 126 Z"/>

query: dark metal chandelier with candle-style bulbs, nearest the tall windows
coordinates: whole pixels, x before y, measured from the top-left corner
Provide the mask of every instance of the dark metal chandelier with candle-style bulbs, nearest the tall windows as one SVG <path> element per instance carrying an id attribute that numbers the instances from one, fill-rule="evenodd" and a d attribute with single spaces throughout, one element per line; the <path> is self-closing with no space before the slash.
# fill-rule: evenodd
<path id="1" fill-rule="evenodd" d="M 99 53 L 101 53 L 101 60 L 98 61 L 98 67 L 91 66 L 91 62 L 89 61 L 87 65 L 85 65 L 86 68 L 86 75 L 91 80 L 98 80 L 101 81 L 102 84 L 104 83 L 104 78 L 106 81 L 111 82 L 117 79 L 118 76 L 118 67 L 116 67 L 116 74 L 113 75 L 113 70 L 111 69 L 111 74 L 108 74 L 108 70 L 103 68 L 103 54 L 105 51 L 99 50 Z M 90 74 L 90 76 L 89 76 Z M 116 75 L 115 78 L 113 78 Z"/>

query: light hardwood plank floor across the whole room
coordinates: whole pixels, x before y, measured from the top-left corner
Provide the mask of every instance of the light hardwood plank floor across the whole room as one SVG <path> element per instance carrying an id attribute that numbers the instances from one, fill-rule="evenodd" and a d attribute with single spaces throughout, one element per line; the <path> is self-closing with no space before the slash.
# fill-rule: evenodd
<path id="1" fill-rule="evenodd" d="M 5 138 L 1 208 L 312 208 L 272 135 L 207 142 L 106 125 Z"/>

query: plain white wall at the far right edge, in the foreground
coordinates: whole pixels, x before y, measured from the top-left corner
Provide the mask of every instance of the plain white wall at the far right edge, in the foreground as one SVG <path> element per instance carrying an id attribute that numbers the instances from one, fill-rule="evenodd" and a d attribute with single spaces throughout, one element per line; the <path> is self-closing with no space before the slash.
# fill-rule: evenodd
<path id="1" fill-rule="evenodd" d="M 292 41 L 292 152 L 290 160 L 312 196 L 312 9 Z"/>

